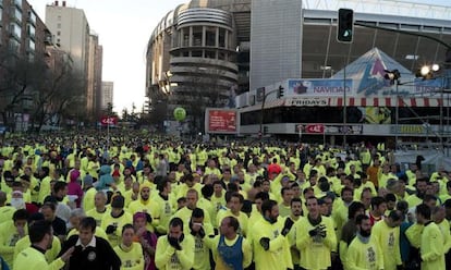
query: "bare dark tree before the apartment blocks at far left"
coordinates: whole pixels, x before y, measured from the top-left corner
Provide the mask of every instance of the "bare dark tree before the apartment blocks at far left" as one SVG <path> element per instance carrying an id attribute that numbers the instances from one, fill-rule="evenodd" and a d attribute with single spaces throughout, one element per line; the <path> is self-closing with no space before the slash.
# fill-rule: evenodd
<path id="1" fill-rule="evenodd" d="M 15 113 L 29 113 L 32 128 L 39 132 L 46 123 L 59 125 L 69 108 L 83 106 L 84 79 L 70 62 L 51 66 L 44 58 L 20 58 L 10 50 L 1 50 L 0 59 L 0 112 L 12 130 Z"/>

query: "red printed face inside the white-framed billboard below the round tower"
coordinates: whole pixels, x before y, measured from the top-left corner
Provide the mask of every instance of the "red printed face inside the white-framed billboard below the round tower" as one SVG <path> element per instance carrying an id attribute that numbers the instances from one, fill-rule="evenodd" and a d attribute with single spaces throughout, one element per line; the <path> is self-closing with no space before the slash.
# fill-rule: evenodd
<path id="1" fill-rule="evenodd" d="M 208 114 L 209 132 L 236 132 L 236 111 L 210 110 Z"/>

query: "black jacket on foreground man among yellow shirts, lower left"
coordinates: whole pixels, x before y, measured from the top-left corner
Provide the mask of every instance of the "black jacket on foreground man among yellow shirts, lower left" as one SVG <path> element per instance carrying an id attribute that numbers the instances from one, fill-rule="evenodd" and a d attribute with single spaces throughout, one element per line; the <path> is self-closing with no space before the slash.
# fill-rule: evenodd
<path id="1" fill-rule="evenodd" d="M 69 270 L 119 270 L 121 259 L 112 249 L 110 243 L 106 240 L 96 237 L 96 247 L 88 246 L 83 249 L 82 246 L 75 246 L 78 235 L 72 235 L 64 242 L 60 256 L 69 248 L 75 246 L 75 250 L 71 256 L 65 269 Z"/>

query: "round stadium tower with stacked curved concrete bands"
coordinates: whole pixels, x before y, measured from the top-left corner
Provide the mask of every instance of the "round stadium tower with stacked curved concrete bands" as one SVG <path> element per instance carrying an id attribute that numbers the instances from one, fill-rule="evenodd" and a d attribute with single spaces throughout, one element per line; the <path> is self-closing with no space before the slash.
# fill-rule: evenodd
<path id="1" fill-rule="evenodd" d="M 248 89 L 249 8 L 251 0 L 191 1 L 161 20 L 147 50 L 150 109 L 183 106 L 190 130 L 199 131 L 205 108 Z"/>

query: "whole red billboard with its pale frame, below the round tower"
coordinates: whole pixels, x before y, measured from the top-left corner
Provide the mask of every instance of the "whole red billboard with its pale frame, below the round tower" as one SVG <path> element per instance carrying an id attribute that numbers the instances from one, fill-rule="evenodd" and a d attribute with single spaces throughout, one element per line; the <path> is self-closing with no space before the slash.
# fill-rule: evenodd
<path id="1" fill-rule="evenodd" d="M 236 110 L 208 108 L 205 113 L 206 133 L 237 133 L 240 124 Z"/>

